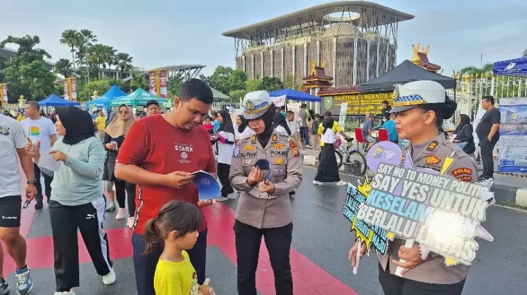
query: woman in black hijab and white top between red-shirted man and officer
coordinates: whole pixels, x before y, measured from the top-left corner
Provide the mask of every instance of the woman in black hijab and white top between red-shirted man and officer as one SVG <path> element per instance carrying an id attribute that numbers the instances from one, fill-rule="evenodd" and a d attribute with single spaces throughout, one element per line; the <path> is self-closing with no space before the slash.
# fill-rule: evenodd
<path id="1" fill-rule="evenodd" d="M 220 129 L 216 134 L 218 143 L 218 179 L 221 182 L 221 198 L 216 200 L 225 201 L 229 197 L 234 197 L 234 189 L 229 181 L 230 162 L 234 151 L 234 125 L 227 109 L 218 111 Z"/>

